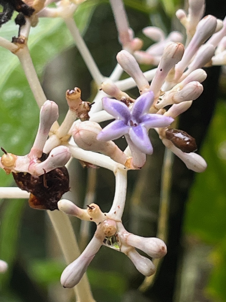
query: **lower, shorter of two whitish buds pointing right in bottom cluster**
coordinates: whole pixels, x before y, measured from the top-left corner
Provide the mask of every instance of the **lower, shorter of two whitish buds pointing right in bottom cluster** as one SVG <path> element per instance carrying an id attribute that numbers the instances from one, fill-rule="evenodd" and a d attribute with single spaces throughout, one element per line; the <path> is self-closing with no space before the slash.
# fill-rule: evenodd
<path id="1" fill-rule="evenodd" d="M 135 249 L 131 249 L 127 253 L 127 256 L 142 275 L 151 276 L 155 273 L 155 265 L 151 262 L 151 260 L 141 256 Z"/>

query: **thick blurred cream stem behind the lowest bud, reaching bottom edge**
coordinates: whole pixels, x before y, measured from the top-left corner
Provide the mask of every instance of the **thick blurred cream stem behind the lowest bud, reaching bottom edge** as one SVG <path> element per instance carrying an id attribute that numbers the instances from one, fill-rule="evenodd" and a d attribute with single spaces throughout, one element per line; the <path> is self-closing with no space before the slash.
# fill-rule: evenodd
<path id="1" fill-rule="evenodd" d="M 67 264 L 74 261 L 80 255 L 74 230 L 66 214 L 61 211 L 47 211 L 56 232 L 59 244 L 61 246 L 64 258 Z M 79 302 L 94 302 L 91 294 L 89 281 L 86 274 L 83 275 L 79 284 L 74 288 L 77 300 Z"/>

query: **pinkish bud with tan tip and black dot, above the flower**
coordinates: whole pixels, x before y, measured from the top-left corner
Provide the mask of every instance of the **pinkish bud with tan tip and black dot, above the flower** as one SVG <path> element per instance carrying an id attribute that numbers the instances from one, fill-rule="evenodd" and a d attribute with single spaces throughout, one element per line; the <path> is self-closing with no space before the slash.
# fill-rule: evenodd
<path id="1" fill-rule="evenodd" d="M 149 90 L 153 91 L 155 98 L 159 97 L 159 92 L 162 87 L 168 72 L 179 62 L 184 53 L 184 45 L 181 43 L 170 42 L 166 45 L 161 61 L 151 82 Z"/>

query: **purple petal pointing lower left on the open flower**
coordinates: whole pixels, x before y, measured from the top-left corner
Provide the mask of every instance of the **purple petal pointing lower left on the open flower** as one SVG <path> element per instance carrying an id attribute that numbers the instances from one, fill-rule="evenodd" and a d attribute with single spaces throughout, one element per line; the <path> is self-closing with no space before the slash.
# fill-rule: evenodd
<path id="1" fill-rule="evenodd" d="M 130 126 L 127 126 L 123 120 L 114 120 L 108 124 L 104 129 L 97 135 L 97 140 L 116 140 L 117 138 L 127 134 Z"/>

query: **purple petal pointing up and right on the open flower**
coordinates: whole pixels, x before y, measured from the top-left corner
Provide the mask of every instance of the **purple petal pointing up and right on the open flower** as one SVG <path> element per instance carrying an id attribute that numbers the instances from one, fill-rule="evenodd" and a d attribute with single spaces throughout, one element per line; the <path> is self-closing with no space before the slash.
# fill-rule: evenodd
<path id="1" fill-rule="evenodd" d="M 131 111 L 133 118 L 139 119 L 142 114 L 148 112 L 153 101 L 154 94 L 152 91 L 148 91 L 140 95 L 139 98 L 136 99 Z"/>

